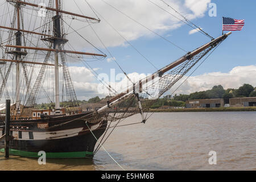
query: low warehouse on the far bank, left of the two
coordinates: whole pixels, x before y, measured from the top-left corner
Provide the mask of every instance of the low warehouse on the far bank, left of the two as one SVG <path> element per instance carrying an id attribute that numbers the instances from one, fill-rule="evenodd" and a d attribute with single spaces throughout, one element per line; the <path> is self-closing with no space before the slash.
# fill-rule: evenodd
<path id="1" fill-rule="evenodd" d="M 224 106 L 223 98 L 186 101 L 187 108 L 212 108 L 212 107 L 223 107 L 223 106 Z"/>

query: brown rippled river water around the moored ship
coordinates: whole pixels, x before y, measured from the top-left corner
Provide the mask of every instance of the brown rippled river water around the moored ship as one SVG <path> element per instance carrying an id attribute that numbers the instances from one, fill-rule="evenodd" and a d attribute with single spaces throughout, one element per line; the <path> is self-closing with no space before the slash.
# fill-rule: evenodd
<path id="1" fill-rule="evenodd" d="M 256 112 L 155 113 L 146 124 L 118 127 L 104 147 L 126 170 L 256 170 Z M 0 154 L 0 170 L 121 170 L 102 149 L 93 160 L 46 162 Z"/>

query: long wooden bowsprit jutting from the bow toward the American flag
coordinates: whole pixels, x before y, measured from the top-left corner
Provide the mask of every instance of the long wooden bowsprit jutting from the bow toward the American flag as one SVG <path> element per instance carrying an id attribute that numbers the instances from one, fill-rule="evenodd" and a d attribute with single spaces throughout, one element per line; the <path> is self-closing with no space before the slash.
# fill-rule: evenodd
<path id="1" fill-rule="evenodd" d="M 154 78 L 159 77 L 159 75 L 163 75 L 167 71 L 170 71 L 170 69 L 176 67 L 177 65 L 183 63 L 186 60 L 191 59 L 193 56 L 199 54 L 200 52 L 204 51 L 205 49 L 212 46 L 213 44 L 216 44 L 216 43 L 226 39 L 230 34 L 232 34 L 232 32 L 228 32 L 227 34 L 224 34 L 224 35 L 212 40 L 211 42 L 205 44 L 204 46 L 201 46 L 200 48 L 195 49 L 195 51 L 187 53 L 187 55 L 184 55 L 179 60 L 176 60 L 174 63 L 171 63 L 171 64 L 167 65 L 166 67 L 160 69 L 158 72 L 140 80 L 137 83 L 137 84 L 139 84 L 139 89 L 141 90 L 142 85 L 146 84 L 147 82 L 149 82 L 151 80 L 154 80 Z M 122 92 L 122 93 L 117 94 L 117 96 L 113 97 L 111 100 L 108 101 L 108 105 L 98 109 L 97 113 L 103 112 L 104 110 L 108 109 L 110 106 L 114 106 L 114 105 L 119 104 L 119 102 L 121 102 L 124 98 L 130 96 L 130 94 L 131 94 L 130 92 L 133 91 L 133 89 L 134 89 L 134 85 L 129 86 L 129 88 L 127 88 L 126 92 Z"/>

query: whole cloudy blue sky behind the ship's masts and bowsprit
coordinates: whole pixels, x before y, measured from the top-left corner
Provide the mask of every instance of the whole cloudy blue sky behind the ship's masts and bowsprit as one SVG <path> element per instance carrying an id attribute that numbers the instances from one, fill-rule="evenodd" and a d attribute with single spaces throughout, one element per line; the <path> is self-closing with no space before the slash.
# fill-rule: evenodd
<path id="1" fill-rule="evenodd" d="M 1 5 L 3 0 L 0 2 Z M 34 1 L 30 2 L 34 3 Z M 40 2 L 46 1 L 38 1 L 38 3 Z M 117 90 L 126 85 L 127 78 L 121 74 L 122 71 L 112 56 L 123 71 L 135 81 L 155 72 L 156 68 L 160 69 L 170 64 L 185 54 L 183 50 L 175 47 L 170 42 L 185 51 L 192 51 L 210 41 L 207 36 L 200 34 L 200 32 L 168 14 L 166 11 L 181 18 L 179 14 L 160 0 L 87 0 L 87 2 L 90 6 L 84 0 L 63 1 L 63 10 L 65 11 L 101 19 L 100 23 L 93 23 L 88 26 L 88 23 L 82 22 L 81 18 L 76 20 L 72 19 L 71 16 L 64 16 L 65 30 L 69 39 L 68 44 L 72 45 L 77 51 L 101 53 L 88 44 L 90 42 L 104 52 L 107 57 L 103 60 L 90 61 L 85 59 L 85 61 L 88 61 L 86 63 L 101 77 L 105 77 L 107 82 L 114 84 Z M 214 85 L 219 84 L 224 86 L 225 89 L 238 88 L 244 83 L 256 86 L 254 53 L 256 48 L 254 18 L 256 15 L 254 10 L 256 1 L 164 0 L 164 2 L 174 7 L 214 38 L 222 34 L 222 16 L 245 19 L 245 26 L 242 31 L 233 31 L 232 35 L 221 43 L 183 85 L 176 90 L 177 86 L 187 78 L 186 76 L 180 82 L 177 82 L 167 94 L 172 94 L 174 90 L 176 90 L 176 94 L 189 94 L 211 89 Z M 212 3 L 216 5 L 216 16 L 209 15 L 209 11 L 212 12 Z M 39 23 L 39 21 L 36 23 Z M 28 29 L 29 27 L 25 28 Z M 88 42 L 76 34 L 73 29 L 77 30 Z M 170 42 L 160 38 L 148 29 Z M 43 43 L 39 46 L 43 46 Z M 100 82 L 84 64 L 75 60 L 67 61 L 79 100 L 88 100 L 94 96 L 105 97 L 108 94 L 108 92 L 103 92 L 100 89 L 102 85 L 99 85 Z M 187 76 L 193 70 L 187 73 Z M 47 84 L 51 85 L 49 82 Z"/>

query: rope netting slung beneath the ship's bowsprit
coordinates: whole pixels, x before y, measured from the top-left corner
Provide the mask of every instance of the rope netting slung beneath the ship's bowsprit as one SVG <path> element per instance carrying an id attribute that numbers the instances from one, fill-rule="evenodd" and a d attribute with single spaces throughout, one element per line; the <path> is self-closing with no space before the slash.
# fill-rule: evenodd
<path id="1" fill-rule="evenodd" d="M 139 101 L 141 102 L 143 112 L 149 111 L 150 107 L 154 105 L 164 93 L 170 90 L 177 81 L 179 81 L 192 67 L 221 42 L 212 44 L 204 51 L 191 57 L 191 59 L 184 61 L 177 67 L 172 68 L 164 75 L 159 75 L 151 81 L 146 82 L 146 84 L 140 85 L 137 90 L 132 90 L 130 93 L 127 93 L 126 97 L 119 98 L 121 101 L 118 101 L 117 105 L 108 107 L 104 112 L 93 112 L 92 114 L 87 115 L 86 118 L 84 118 L 85 121 L 89 123 L 96 123 L 102 120 L 113 122 L 128 118 L 131 115 L 141 113 Z M 138 97 L 135 93 L 138 93 Z M 111 100 L 111 98 L 109 100 Z M 109 100 L 101 100 L 100 103 L 107 104 Z"/>

